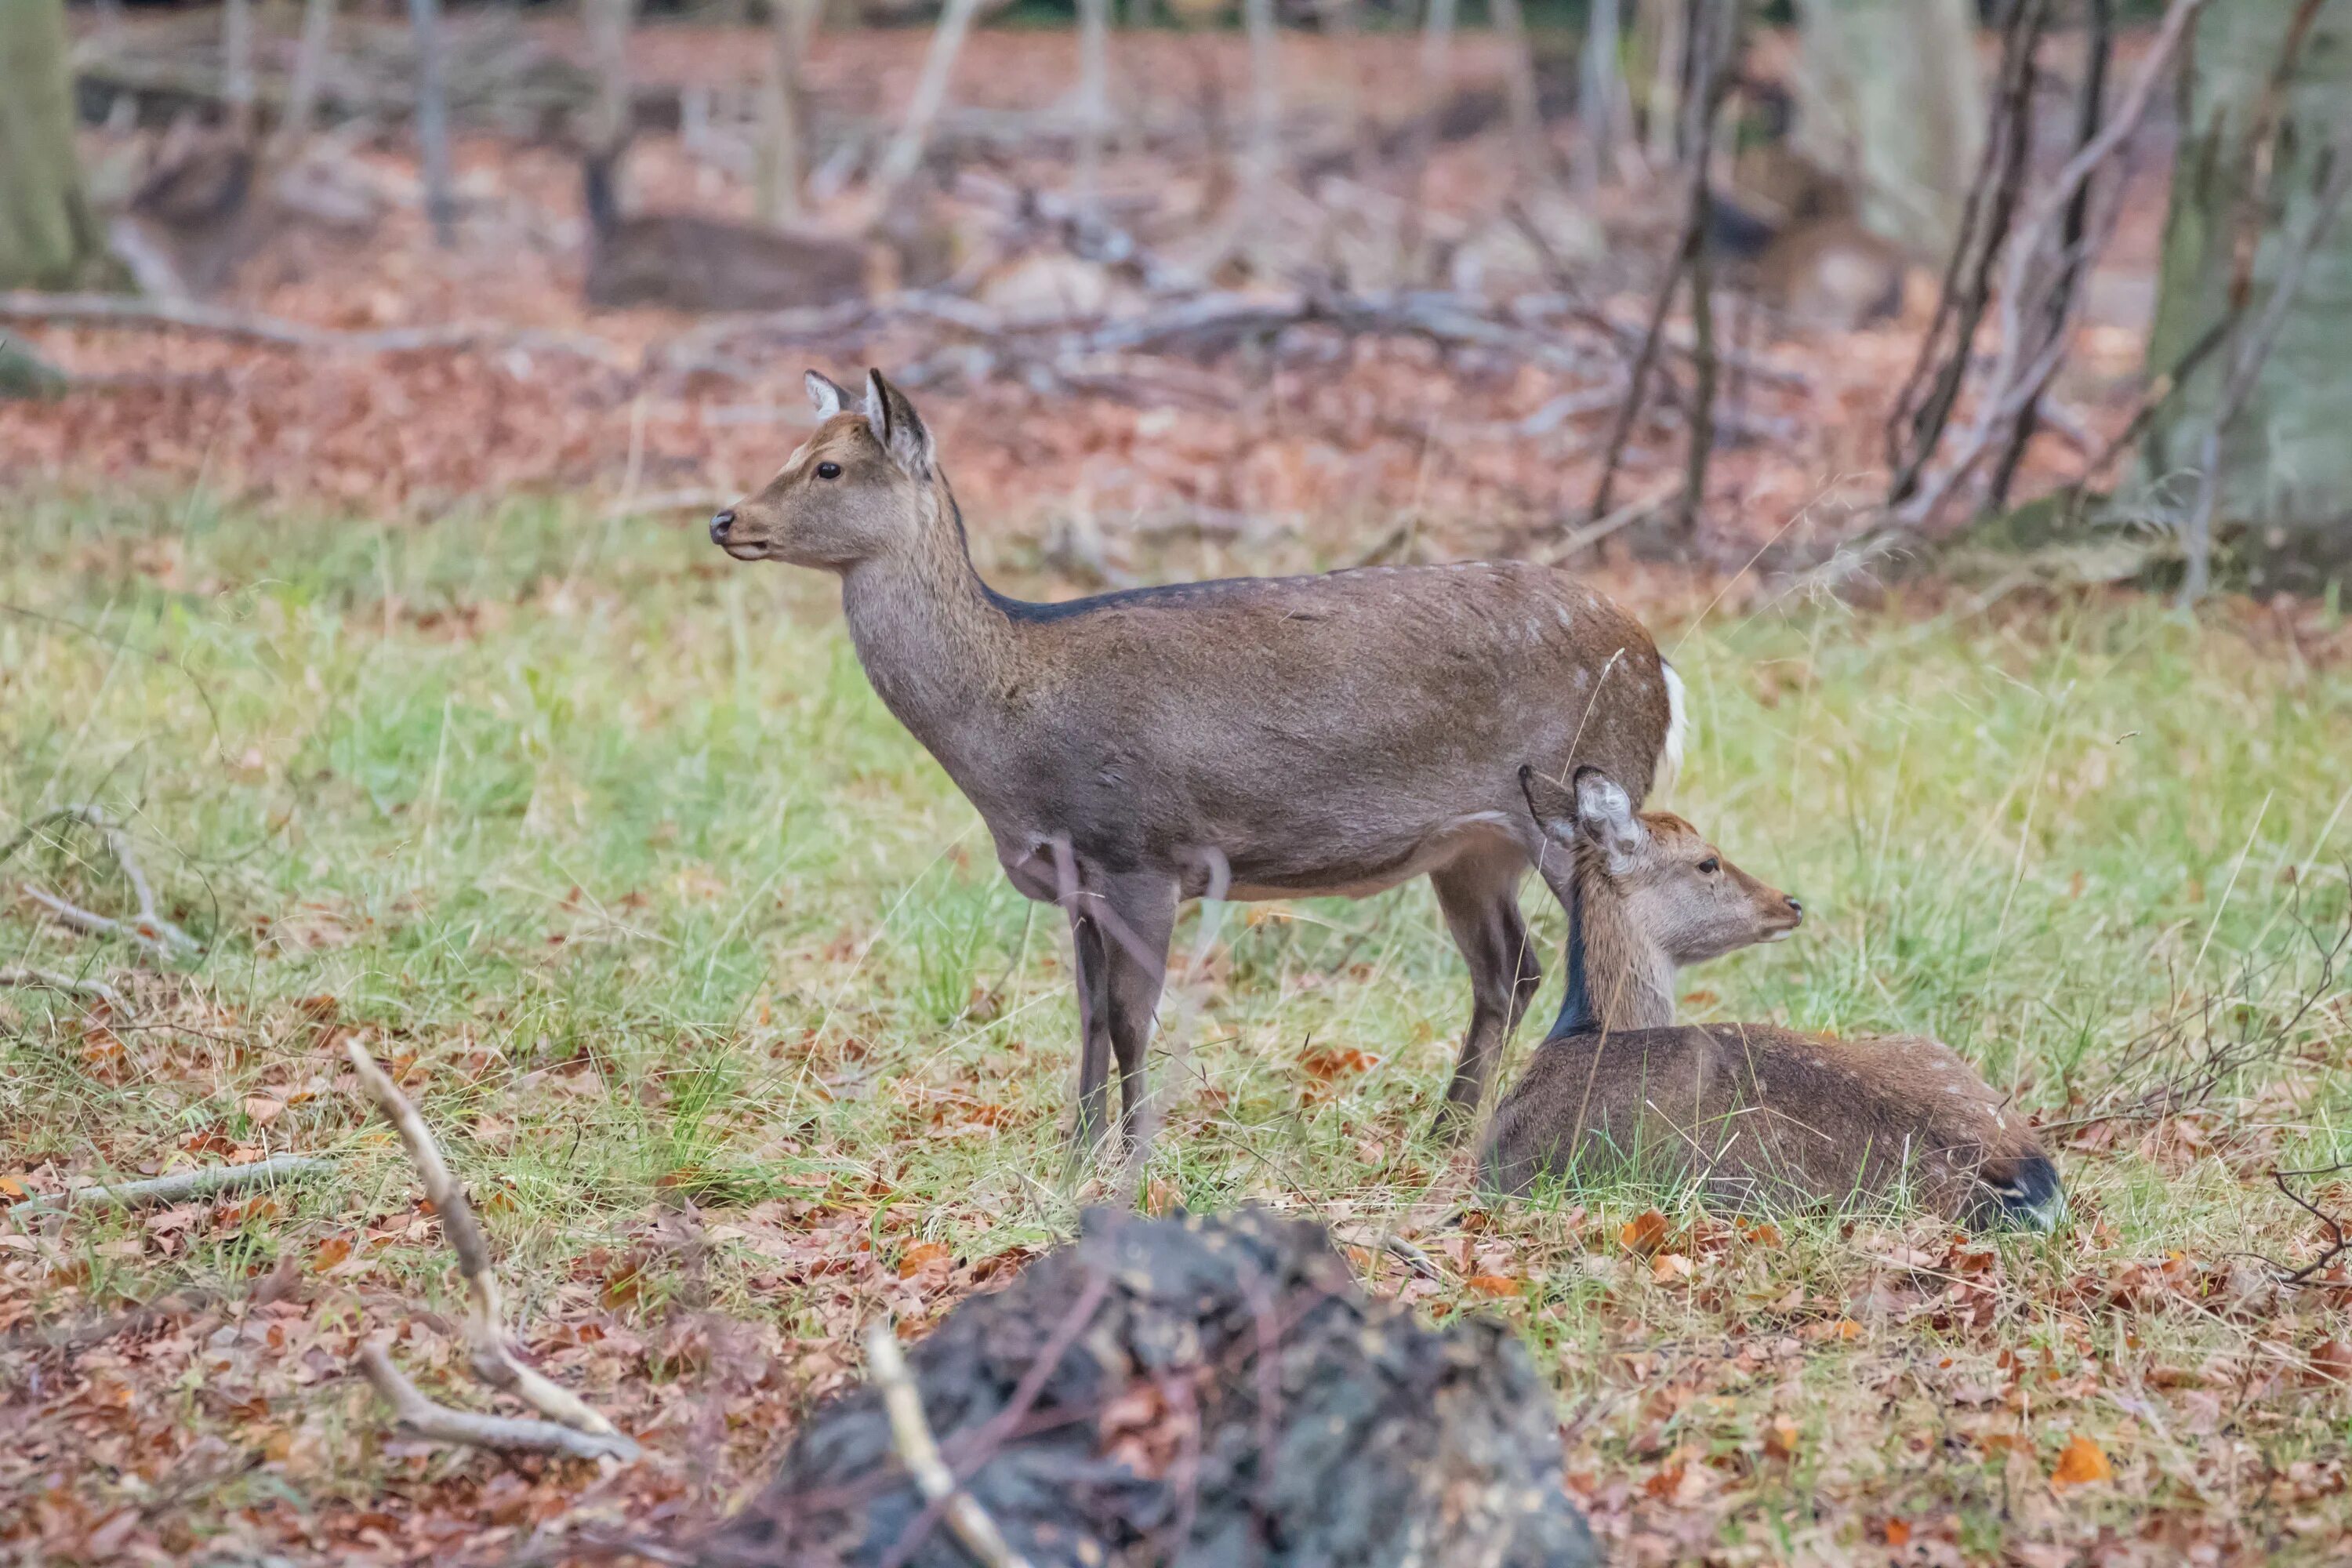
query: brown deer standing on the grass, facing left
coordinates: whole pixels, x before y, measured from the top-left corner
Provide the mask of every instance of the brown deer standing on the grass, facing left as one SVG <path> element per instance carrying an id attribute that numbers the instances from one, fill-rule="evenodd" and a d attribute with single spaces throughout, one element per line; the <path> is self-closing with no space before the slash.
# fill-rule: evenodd
<path id="1" fill-rule="evenodd" d="M 1080 1147 L 1105 1133 L 1112 1058 L 1136 1131 L 1181 900 L 1421 875 L 1470 964 L 1456 1131 L 1543 980 L 1517 900 L 1543 846 L 1519 764 L 1590 762 L 1646 792 L 1682 757 L 1682 682 L 1649 632 L 1524 562 L 1009 599 L 974 571 L 906 395 L 880 374 L 863 402 L 807 383 L 816 435 L 710 538 L 840 574 L 875 691 L 978 806 L 1014 886 L 1068 910 Z"/>

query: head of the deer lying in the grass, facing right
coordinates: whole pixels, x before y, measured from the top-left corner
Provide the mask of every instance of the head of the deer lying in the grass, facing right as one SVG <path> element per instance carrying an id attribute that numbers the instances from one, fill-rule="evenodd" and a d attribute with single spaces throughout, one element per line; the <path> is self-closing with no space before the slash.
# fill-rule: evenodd
<path id="1" fill-rule="evenodd" d="M 1595 766 L 1576 769 L 1573 788 L 1519 769 L 1519 788 L 1543 832 L 1576 856 L 1585 917 L 1616 912 L 1628 940 L 1675 969 L 1778 943 L 1804 922 L 1795 898 L 1731 865 L 1672 811 L 1635 811 Z"/>

